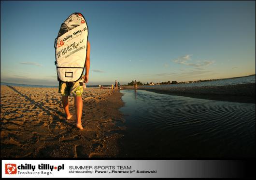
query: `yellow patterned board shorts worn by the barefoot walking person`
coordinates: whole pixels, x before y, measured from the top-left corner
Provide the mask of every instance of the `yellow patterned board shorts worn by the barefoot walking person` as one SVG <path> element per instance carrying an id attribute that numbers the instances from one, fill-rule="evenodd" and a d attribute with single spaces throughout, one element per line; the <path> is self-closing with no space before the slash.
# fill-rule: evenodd
<path id="1" fill-rule="evenodd" d="M 58 92 L 61 96 L 69 96 L 72 92 L 73 96 L 82 96 L 83 93 L 83 76 L 75 82 L 61 82 L 58 84 Z"/>

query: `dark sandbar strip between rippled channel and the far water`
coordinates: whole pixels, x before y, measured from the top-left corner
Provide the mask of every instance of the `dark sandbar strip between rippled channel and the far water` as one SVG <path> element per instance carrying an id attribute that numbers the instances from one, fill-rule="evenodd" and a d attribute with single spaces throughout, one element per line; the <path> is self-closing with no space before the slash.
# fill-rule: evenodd
<path id="1" fill-rule="evenodd" d="M 134 89 L 133 86 L 122 86 L 122 90 Z M 156 88 L 138 86 L 138 90 L 148 90 L 156 93 L 186 96 L 199 99 L 228 101 L 237 103 L 255 103 L 255 83 L 203 86 L 203 87 L 168 87 Z M 121 91 L 122 92 L 122 91 Z"/>

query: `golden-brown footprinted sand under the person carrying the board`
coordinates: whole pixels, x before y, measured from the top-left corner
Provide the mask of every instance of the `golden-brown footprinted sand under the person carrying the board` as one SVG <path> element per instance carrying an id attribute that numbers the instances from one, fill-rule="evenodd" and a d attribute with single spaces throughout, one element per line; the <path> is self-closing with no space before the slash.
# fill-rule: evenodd
<path id="1" fill-rule="evenodd" d="M 74 98 L 66 120 L 58 88 L 1 85 L 1 157 L 116 157 L 125 130 L 121 96 L 119 90 L 84 90 L 80 130 Z"/>

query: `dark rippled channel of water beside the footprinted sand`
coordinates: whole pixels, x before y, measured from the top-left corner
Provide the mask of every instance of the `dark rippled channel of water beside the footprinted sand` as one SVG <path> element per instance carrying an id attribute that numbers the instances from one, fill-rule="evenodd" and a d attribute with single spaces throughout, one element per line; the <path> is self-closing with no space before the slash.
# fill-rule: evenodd
<path id="1" fill-rule="evenodd" d="M 122 90 L 128 157 L 255 157 L 255 104 Z"/>

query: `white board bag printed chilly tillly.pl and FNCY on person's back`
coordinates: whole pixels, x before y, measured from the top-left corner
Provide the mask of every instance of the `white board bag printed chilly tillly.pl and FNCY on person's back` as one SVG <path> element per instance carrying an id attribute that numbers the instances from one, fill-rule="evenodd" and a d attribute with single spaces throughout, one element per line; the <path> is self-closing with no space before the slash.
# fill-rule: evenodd
<path id="1" fill-rule="evenodd" d="M 75 82 L 85 69 L 88 27 L 81 13 L 72 13 L 61 24 L 54 42 L 58 81 Z"/>

